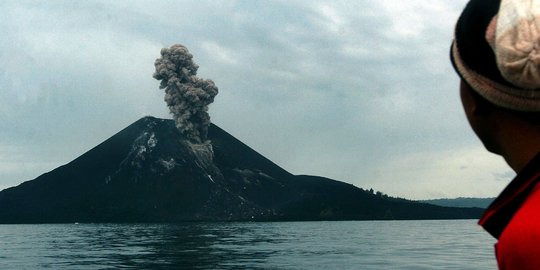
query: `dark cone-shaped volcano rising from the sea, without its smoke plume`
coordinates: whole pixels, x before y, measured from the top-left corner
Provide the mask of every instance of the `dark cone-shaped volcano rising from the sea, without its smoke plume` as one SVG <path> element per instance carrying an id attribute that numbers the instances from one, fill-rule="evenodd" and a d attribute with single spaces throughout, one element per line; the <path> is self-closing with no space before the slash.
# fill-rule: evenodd
<path id="1" fill-rule="evenodd" d="M 0 192 L 0 223 L 477 218 L 293 175 L 216 125 L 193 144 L 144 117 L 70 163 Z"/>

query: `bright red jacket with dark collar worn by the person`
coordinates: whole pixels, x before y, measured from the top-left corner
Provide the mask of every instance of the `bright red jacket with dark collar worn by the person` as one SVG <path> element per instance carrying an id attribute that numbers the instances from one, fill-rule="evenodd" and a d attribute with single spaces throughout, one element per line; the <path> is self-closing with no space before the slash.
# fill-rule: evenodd
<path id="1" fill-rule="evenodd" d="M 510 182 L 479 224 L 498 239 L 499 269 L 540 269 L 540 155 Z"/>

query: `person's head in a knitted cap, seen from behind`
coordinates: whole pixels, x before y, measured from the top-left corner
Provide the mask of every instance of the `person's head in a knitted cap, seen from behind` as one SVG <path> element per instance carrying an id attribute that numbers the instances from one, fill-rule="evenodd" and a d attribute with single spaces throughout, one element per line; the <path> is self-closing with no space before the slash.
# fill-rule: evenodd
<path id="1" fill-rule="evenodd" d="M 469 1 L 450 58 L 469 123 L 489 151 L 505 154 L 501 136 L 540 132 L 540 0 Z"/>

